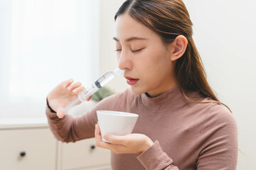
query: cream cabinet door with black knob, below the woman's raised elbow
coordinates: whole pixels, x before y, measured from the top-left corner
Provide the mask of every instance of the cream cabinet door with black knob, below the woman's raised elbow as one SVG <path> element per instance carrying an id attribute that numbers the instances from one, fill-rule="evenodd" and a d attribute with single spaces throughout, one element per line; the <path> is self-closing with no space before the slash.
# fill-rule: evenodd
<path id="1" fill-rule="evenodd" d="M 110 151 L 95 147 L 94 138 L 63 143 L 62 151 L 62 169 L 110 169 Z"/>

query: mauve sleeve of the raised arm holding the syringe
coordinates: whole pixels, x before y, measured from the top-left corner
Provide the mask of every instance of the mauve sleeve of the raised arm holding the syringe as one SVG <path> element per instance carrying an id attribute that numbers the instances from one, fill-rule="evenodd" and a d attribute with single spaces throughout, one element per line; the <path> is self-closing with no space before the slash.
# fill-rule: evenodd
<path id="1" fill-rule="evenodd" d="M 90 137 L 95 137 L 95 124 L 97 123 L 98 110 L 111 110 L 114 104 L 115 96 L 110 96 L 100 101 L 92 111 L 73 118 L 72 115 L 65 115 L 64 118 L 58 118 L 56 113 L 52 113 L 46 106 L 46 116 L 50 130 L 57 140 L 62 142 L 75 142 Z"/>

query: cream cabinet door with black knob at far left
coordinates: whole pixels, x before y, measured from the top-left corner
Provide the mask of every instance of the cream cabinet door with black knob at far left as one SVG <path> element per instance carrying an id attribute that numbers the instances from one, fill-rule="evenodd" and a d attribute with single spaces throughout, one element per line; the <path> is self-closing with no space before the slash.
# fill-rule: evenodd
<path id="1" fill-rule="evenodd" d="M 55 169 L 56 145 L 48 128 L 0 130 L 0 169 Z"/>

